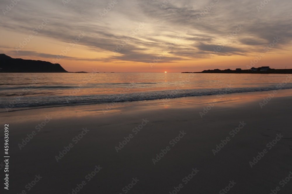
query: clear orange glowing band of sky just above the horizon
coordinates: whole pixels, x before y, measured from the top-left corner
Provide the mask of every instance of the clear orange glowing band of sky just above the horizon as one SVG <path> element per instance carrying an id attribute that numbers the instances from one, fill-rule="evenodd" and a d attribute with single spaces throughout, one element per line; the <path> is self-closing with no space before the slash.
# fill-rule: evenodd
<path id="1" fill-rule="evenodd" d="M 62 50 L 69 44 L 68 42 L 62 42 L 53 38 L 44 36 L 35 36 L 27 46 L 21 51 L 31 51 L 32 54 L 26 54 L 25 52 L 20 55 L 15 52 L 15 47 L 18 47 L 18 42 L 23 41 L 23 37 L 26 34 L 19 32 L 8 32 L 3 30 L 2 35 L 4 45 L 10 45 L 13 43 L 13 47 L 4 47 L 0 49 L 0 53 L 7 54 L 12 58 L 23 58 L 31 60 L 43 60 L 53 62 L 57 55 L 62 53 Z M 45 43 L 46 47 L 43 46 Z M 38 49 L 36 49 L 38 48 Z M 292 46 L 286 47 L 285 50 L 272 49 L 269 53 L 264 53 L 265 56 L 255 64 L 254 67 L 270 66 L 274 69 L 292 69 L 291 54 Z M 236 68 L 247 69 L 250 66 L 251 61 L 259 56 L 260 52 L 253 51 L 246 55 L 230 55 L 230 56 L 212 56 L 212 58 L 184 58 L 184 60 L 177 60 L 171 62 L 158 62 L 155 65 L 150 66 L 153 60 L 149 59 L 149 62 L 140 61 L 126 61 L 126 60 L 106 60 L 110 58 L 113 53 L 111 51 L 98 50 L 93 51 L 87 46 L 77 44 L 72 47 L 66 54 L 65 58 L 62 58 L 59 63 L 65 70 L 69 72 L 201 72 L 208 69 L 232 69 Z M 37 55 L 38 53 L 44 53 L 46 55 Z M 50 56 L 51 55 L 51 56 Z M 155 54 L 153 54 L 155 55 Z M 175 57 L 175 55 L 169 54 L 169 56 Z"/>

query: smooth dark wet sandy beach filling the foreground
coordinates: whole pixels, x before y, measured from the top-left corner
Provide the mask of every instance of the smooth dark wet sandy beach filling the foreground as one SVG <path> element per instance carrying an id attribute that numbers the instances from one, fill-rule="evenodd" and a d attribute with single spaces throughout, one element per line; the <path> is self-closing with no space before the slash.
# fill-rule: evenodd
<path id="1" fill-rule="evenodd" d="M 261 108 L 268 93 L 0 113 L 1 142 L 4 124 L 10 130 L 9 193 L 291 193 L 292 180 L 280 181 L 292 171 L 292 90 Z"/>

